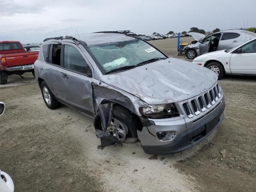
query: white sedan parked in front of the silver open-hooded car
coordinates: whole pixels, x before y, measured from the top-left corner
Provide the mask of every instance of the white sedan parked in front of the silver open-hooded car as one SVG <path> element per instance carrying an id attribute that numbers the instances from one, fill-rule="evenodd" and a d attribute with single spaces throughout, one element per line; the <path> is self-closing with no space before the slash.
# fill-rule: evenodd
<path id="1" fill-rule="evenodd" d="M 218 79 L 225 74 L 256 75 L 256 38 L 234 48 L 203 54 L 193 63 L 214 71 Z"/>

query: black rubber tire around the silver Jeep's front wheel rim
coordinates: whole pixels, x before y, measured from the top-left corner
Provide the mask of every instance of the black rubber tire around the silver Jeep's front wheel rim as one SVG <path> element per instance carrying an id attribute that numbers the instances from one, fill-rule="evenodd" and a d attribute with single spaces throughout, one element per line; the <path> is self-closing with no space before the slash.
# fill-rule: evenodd
<path id="1" fill-rule="evenodd" d="M 124 142 L 136 142 L 137 140 L 137 129 L 140 128 L 141 123 L 128 109 L 114 105 L 113 107 L 113 118 L 118 120 L 124 127 L 127 128 L 127 133 Z M 94 118 L 94 127 L 102 130 L 101 119 L 99 113 Z"/>

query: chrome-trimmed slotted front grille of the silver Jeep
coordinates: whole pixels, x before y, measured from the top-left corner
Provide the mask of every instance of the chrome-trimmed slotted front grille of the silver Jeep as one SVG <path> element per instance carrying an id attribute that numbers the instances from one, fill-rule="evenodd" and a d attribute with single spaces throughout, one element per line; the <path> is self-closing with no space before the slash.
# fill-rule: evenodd
<path id="1" fill-rule="evenodd" d="M 200 114 L 200 112 L 206 111 L 206 109 L 211 108 L 221 97 L 221 88 L 218 83 L 204 92 L 203 94 L 192 98 L 186 102 L 182 103 L 182 107 L 189 118 L 192 118 L 194 115 Z"/>

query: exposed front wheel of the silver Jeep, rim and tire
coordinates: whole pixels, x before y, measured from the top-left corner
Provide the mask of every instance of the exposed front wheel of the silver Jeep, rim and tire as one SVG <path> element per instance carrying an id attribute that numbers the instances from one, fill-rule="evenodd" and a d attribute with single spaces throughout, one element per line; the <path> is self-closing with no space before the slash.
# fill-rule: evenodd
<path id="1" fill-rule="evenodd" d="M 128 109 L 114 105 L 112 120 L 107 132 L 122 142 L 136 142 L 137 128 L 140 125 L 138 119 Z M 94 127 L 102 130 L 99 113 L 95 116 Z"/>

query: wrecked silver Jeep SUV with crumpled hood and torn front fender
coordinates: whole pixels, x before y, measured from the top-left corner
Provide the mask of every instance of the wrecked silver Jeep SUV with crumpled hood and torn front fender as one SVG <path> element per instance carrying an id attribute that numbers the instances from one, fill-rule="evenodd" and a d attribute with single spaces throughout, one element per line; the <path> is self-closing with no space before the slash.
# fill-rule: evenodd
<path id="1" fill-rule="evenodd" d="M 139 138 L 148 154 L 185 150 L 224 117 L 214 72 L 126 32 L 46 39 L 34 66 L 48 108 L 75 108 L 94 118 L 98 137 Z"/>

